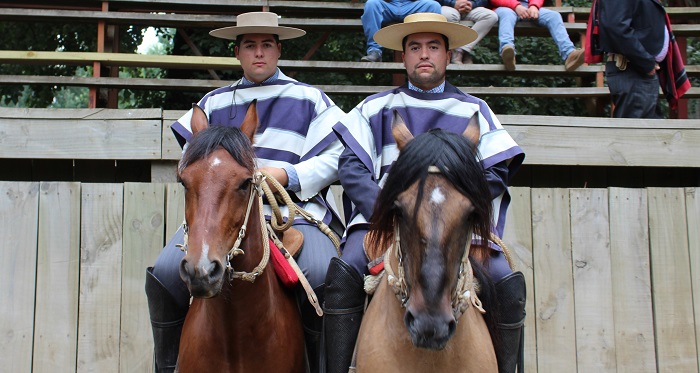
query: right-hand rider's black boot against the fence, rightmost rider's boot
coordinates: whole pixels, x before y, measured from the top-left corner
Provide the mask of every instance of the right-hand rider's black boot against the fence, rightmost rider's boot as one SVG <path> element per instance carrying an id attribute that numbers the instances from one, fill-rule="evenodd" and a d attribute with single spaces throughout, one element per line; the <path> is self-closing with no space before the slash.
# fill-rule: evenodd
<path id="1" fill-rule="evenodd" d="M 523 372 L 525 333 L 525 276 L 514 272 L 496 283 L 498 334 L 496 348 L 499 373 Z"/>

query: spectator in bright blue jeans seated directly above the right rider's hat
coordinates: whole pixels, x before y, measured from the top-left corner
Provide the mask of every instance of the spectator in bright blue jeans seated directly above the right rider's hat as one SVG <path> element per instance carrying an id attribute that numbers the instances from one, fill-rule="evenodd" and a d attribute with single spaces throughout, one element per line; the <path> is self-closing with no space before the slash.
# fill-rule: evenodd
<path id="1" fill-rule="evenodd" d="M 382 47 L 374 41 L 374 33 L 379 31 L 382 25 L 403 22 L 406 16 L 414 13 L 440 14 L 443 5 L 456 7 L 459 6 L 457 3 L 466 3 L 466 0 L 367 0 L 361 18 L 367 38 L 367 55 L 360 61 L 382 60 Z"/>

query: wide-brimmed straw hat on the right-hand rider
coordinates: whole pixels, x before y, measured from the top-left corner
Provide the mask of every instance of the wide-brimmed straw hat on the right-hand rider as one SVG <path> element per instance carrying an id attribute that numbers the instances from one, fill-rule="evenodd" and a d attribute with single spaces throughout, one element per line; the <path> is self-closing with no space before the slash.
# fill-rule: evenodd
<path id="1" fill-rule="evenodd" d="M 435 32 L 445 35 L 449 49 L 461 47 L 476 40 L 478 34 L 470 27 L 448 22 L 447 18 L 437 13 L 414 13 L 406 16 L 403 23 L 384 27 L 374 34 L 374 41 L 382 47 L 403 50 L 403 39 L 419 32 Z"/>

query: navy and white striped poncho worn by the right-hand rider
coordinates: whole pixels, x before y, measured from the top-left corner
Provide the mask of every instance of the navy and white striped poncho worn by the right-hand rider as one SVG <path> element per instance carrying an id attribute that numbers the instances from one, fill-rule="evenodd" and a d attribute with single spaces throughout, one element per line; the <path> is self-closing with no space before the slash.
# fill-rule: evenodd
<path id="1" fill-rule="evenodd" d="M 505 212 L 510 202 L 508 179 L 524 159 L 524 153 L 489 106 L 449 83 L 444 93 L 421 93 L 406 85 L 370 96 L 349 112 L 333 129 L 346 149 L 341 156 L 340 181 L 353 203 L 348 229 L 366 224 L 379 188 L 398 157 L 391 134 L 393 110 L 406 121 L 414 136 L 432 128 L 462 133 L 478 113 L 481 130 L 479 151 L 494 195 L 494 229 L 503 234 Z"/>

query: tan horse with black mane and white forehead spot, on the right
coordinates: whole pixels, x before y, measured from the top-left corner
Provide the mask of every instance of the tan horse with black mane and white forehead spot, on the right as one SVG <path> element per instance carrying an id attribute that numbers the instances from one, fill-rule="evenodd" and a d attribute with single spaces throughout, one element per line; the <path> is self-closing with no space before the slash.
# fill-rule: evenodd
<path id="1" fill-rule="evenodd" d="M 497 372 L 495 290 L 481 265 L 490 249 L 470 247 L 472 233 L 490 237 L 492 214 L 476 118 L 462 135 L 413 139 L 395 112 L 392 133 L 400 154 L 366 237 L 385 273 L 360 327 L 357 372 Z"/>

